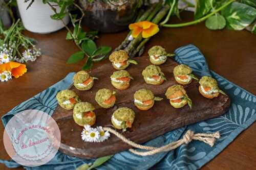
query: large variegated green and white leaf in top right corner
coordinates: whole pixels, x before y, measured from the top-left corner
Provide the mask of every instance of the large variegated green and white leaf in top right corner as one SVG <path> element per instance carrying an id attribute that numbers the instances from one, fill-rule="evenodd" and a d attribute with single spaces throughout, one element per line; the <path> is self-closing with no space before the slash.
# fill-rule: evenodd
<path id="1" fill-rule="evenodd" d="M 256 9 L 234 2 L 224 8 L 221 14 L 226 18 L 227 27 L 232 30 L 243 30 L 256 18 Z"/>

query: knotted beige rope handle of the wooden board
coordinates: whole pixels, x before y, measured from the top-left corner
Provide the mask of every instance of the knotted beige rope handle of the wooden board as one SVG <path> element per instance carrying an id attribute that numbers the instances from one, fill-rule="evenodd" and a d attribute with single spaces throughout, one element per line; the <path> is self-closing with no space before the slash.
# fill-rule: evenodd
<path id="1" fill-rule="evenodd" d="M 172 143 L 168 143 L 168 144 L 166 144 L 166 145 L 164 145 L 164 146 L 162 146 L 160 148 L 157 148 L 157 147 L 148 147 L 148 146 L 144 146 L 144 145 L 135 143 L 135 142 L 127 139 L 122 134 L 118 133 L 117 131 L 115 131 L 112 128 L 104 127 L 103 130 L 109 131 L 110 133 L 113 133 L 119 139 L 121 139 L 123 142 L 131 145 L 134 148 L 148 150 L 146 152 L 143 152 L 143 151 L 140 152 L 140 151 L 136 151 L 134 149 L 130 149 L 129 150 L 133 154 L 140 155 L 140 156 L 154 155 L 154 154 L 157 154 L 157 153 L 160 153 L 160 152 L 167 152 L 167 151 L 170 151 L 170 150 L 174 150 L 174 149 L 180 147 L 180 145 L 182 145 L 184 143 L 188 144 L 193 139 L 194 140 L 203 141 L 203 142 L 209 144 L 212 147 L 214 145 L 214 143 L 216 142 L 216 139 L 220 138 L 220 133 L 219 132 L 215 132 L 215 133 L 212 133 L 212 134 L 207 134 L 207 133 L 197 133 L 197 134 L 194 134 L 193 131 L 188 130 L 185 133 L 185 135 L 183 136 L 182 139 L 177 140 L 177 141 L 172 142 Z"/>

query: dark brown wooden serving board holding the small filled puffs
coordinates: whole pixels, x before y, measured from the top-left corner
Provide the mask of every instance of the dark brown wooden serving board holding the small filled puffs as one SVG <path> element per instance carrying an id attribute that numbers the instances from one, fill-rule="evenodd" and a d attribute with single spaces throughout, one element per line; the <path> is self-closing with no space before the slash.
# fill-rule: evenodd
<path id="1" fill-rule="evenodd" d="M 184 86 L 189 98 L 193 101 L 193 108 L 190 110 L 186 105 L 183 108 L 175 109 L 169 104 L 169 100 L 166 99 L 164 93 L 169 86 L 177 84 L 174 79 L 173 69 L 178 64 L 174 60 L 168 59 L 166 63 L 160 65 L 167 81 L 160 86 L 154 86 L 146 84 L 141 75 L 142 70 L 151 64 L 148 57 L 139 57 L 136 60 L 139 62 L 138 65 L 131 64 L 126 69 L 134 78 L 131 81 L 130 88 L 127 90 L 117 90 L 111 85 L 110 76 L 115 71 L 111 62 L 90 71 L 91 76 L 99 79 L 95 80 L 91 90 L 80 91 L 74 86 L 70 87 L 83 102 L 90 102 L 95 106 L 96 124 L 94 127 L 112 125 L 111 116 L 113 112 L 119 107 L 129 107 L 134 110 L 136 117 L 133 127 L 127 129 L 123 135 L 136 143 L 143 143 L 168 131 L 220 116 L 228 110 L 230 106 L 228 96 L 220 94 L 218 98 L 206 99 L 199 93 L 199 84 L 195 80 Z M 95 93 L 101 88 L 109 88 L 116 91 L 117 101 L 114 107 L 103 109 L 96 103 L 94 100 Z M 154 107 L 150 110 L 138 110 L 133 104 L 133 95 L 135 91 L 141 88 L 152 90 L 155 96 L 160 96 L 164 100 L 155 102 Z M 112 155 L 131 148 L 130 145 L 125 144 L 113 134 L 108 140 L 101 143 L 83 142 L 80 137 L 83 127 L 75 124 L 73 110 L 65 110 L 58 106 L 53 118 L 56 120 L 61 133 L 59 150 L 67 155 L 91 159 Z M 120 130 L 118 131 L 121 133 Z"/>

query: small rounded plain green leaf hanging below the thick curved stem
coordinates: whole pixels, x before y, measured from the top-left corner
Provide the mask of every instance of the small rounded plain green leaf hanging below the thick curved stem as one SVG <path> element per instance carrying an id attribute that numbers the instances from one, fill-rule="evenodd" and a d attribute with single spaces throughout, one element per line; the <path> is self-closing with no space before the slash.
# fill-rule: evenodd
<path id="1" fill-rule="evenodd" d="M 221 30 L 226 26 L 226 19 L 217 13 L 216 15 L 207 18 L 205 26 L 210 30 Z"/>

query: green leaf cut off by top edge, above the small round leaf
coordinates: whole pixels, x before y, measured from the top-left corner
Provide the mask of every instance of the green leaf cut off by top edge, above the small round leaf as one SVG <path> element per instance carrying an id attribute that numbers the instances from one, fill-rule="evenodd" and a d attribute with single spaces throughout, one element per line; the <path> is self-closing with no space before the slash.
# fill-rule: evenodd
<path id="1" fill-rule="evenodd" d="M 199 19 L 208 14 L 215 4 L 215 0 L 197 0 L 194 18 Z"/>

